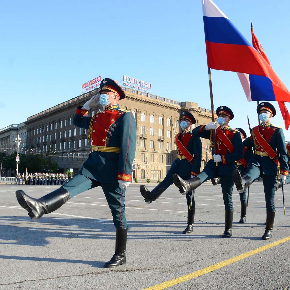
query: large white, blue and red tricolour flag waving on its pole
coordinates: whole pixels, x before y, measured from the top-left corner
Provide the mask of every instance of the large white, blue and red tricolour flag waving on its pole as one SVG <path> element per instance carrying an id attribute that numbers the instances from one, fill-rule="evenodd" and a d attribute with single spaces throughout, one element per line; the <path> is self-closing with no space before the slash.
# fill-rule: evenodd
<path id="1" fill-rule="evenodd" d="M 290 93 L 271 65 L 211 0 L 202 0 L 207 63 L 238 73 L 248 101 L 290 102 Z"/>

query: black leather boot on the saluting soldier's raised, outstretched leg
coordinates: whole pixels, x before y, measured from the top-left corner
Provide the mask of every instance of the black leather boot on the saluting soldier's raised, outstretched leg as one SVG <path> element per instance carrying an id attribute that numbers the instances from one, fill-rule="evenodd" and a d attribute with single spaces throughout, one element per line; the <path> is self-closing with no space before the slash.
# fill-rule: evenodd
<path id="1" fill-rule="evenodd" d="M 17 190 L 16 198 L 23 209 L 28 211 L 30 218 L 38 220 L 45 213 L 51 213 L 66 203 L 70 199 L 70 193 L 60 187 L 37 199 L 26 195 L 22 190 Z"/>

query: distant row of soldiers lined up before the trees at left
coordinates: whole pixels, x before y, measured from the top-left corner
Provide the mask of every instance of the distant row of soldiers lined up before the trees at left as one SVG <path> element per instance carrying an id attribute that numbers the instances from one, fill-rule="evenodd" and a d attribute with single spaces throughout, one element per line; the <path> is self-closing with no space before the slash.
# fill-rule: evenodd
<path id="1" fill-rule="evenodd" d="M 71 178 L 65 173 L 18 173 L 17 184 L 20 185 L 64 185 Z"/>

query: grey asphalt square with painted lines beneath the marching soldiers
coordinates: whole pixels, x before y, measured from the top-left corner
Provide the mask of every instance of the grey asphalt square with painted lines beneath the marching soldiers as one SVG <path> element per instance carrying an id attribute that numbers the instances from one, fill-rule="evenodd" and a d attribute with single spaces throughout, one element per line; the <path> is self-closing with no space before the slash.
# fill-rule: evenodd
<path id="1" fill-rule="evenodd" d="M 194 231 L 184 235 L 185 196 L 170 186 L 147 205 L 140 184 L 126 190 L 126 264 L 106 269 L 115 252 L 115 227 L 101 188 L 81 193 L 37 222 L 19 206 L 17 189 L 41 197 L 58 186 L 0 185 L 0 289 L 290 289 L 290 185 L 275 195 L 273 237 L 263 184 L 251 185 L 247 222 L 234 188 L 233 236 L 222 239 L 220 185 L 195 191 Z M 149 190 L 156 184 L 146 184 Z"/>

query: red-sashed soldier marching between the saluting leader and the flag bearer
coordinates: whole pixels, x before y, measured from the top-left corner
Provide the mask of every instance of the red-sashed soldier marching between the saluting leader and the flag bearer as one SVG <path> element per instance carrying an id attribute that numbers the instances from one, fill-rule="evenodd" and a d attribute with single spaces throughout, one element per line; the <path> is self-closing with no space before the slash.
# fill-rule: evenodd
<path id="1" fill-rule="evenodd" d="M 195 124 L 196 120 L 193 115 L 187 111 L 180 114 L 180 127 L 182 131 L 175 136 L 177 145 L 177 158 L 173 162 L 166 177 L 152 191 L 148 191 L 145 185 L 140 186 L 140 191 L 147 204 L 150 204 L 171 185 L 173 184 L 172 175 L 178 173 L 182 178 L 189 179 L 196 176 L 200 172 L 202 143 L 200 137 L 191 133 L 190 128 Z M 193 192 L 186 194 L 187 201 L 187 227 L 183 231 L 184 234 L 192 233 L 195 214 L 194 197 L 191 199 Z M 192 200 L 192 205 L 191 204 Z"/>

